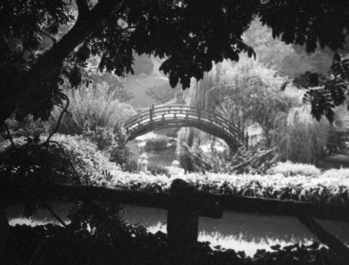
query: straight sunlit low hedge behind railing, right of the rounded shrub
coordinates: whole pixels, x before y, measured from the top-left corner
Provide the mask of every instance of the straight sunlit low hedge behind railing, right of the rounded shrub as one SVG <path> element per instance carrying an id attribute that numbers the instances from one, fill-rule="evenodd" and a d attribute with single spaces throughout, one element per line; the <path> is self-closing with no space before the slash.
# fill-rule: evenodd
<path id="1" fill-rule="evenodd" d="M 338 174 L 337 174 L 338 172 Z M 198 191 L 269 199 L 293 199 L 299 202 L 349 206 L 349 176 L 341 169 L 317 177 L 283 174 L 186 174 L 179 176 Z M 166 176 L 117 174 L 108 185 L 126 190 L 168 191 L 173 179 Z"/>

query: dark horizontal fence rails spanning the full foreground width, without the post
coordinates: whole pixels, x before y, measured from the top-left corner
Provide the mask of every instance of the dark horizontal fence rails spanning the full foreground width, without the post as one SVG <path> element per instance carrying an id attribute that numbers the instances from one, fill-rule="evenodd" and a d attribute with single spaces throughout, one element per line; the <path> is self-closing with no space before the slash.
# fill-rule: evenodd
<path id="1" fill-rule="evenodd" d="M 117 190 L 94 185 L 51 184 L 28 189 L 13 185 L 0 186 L 0 202 L 13 204 L 27 202 L 38 198 L 64 201 L 105 201 L 117 204 L 133 204 L 157 209 L 168 209 L 175 205 L 172 196 L 167 193 L 143 192 L 135 190 Z M 280 201 L 277 199 L 262 199 L 257 197 L 241 197 L 237 195 L 214 195 L 207 192 L 195 192 L 190 202 L 200 210 L 200 216 L 220 218 L 221 213 L 214 211 L 218 202 L 228 211 L 260 213 L 268 215 L 309 216 L 320 219 L 349 222 L 349 209 L 341 206 L 311 204 L 306 202 Z M 183 204 L 182 204 L 183 205 Z M 213 210 L 212 210 L 213 209 Z M 193 209 L 191 209 L 192 211 Z"/>

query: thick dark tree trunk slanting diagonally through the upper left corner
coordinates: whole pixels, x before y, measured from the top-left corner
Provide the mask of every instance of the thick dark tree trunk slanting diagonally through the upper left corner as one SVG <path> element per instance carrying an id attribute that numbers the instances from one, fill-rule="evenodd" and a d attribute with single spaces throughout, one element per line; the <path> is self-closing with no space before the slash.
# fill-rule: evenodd
<path id="1" fill-rule="evenodd" d="M 88 10 L 86 2 L 77 1 L 79 16 L 73 28 L 26 73 L 9 73 L 10 78 L 4 78 L 8 81 L 0 87 L 0 123 L 20 107 L 20 98 L 36 98 L 47 89 L 49 83 L 57 80 L 62 63 L 69 54 L 114 12 L 114 6 L 111 5 L 112 1 L 99 1 L 92 10 Z"/>

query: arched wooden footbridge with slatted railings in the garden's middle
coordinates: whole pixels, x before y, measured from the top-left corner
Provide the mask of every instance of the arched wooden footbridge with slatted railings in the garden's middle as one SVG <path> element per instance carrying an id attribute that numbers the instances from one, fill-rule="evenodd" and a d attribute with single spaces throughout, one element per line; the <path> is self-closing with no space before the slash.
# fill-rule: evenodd
<path id="1" fill-rule="evenodd" d="M 154 128 L 195 127 L 223 139 L 230 149 L 247 144 L 244 130 L 214 112 L 188 105 L 163 105 L 149 107 L 124 123 L 124 128 L 134 139 Z"/>

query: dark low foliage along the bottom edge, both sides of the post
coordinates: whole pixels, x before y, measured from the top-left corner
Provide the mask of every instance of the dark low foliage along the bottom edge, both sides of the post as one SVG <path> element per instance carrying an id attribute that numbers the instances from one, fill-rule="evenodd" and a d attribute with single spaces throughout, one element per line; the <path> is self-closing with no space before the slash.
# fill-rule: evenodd
<path id="1" fill-rule="evenodd" d="M 113 236 L 107 236 L 106 231 Z M 126 233 L 127 232 L 127 233 Z M 53 225 L 11 227 L 8 254 L 3 264 L 168 264 L 165 234 L 151 234 L 142 227 L 105 225 L 94 232 L 64 229 Z M 289 264 L 342 265 L 339 259 L 318 243 L 311 245 L 272 246 L 274 251 L 258 250 L 254 257 L 243 251 L 210 248 L 199 243 L 197 262 L 194 264 Z"/>

